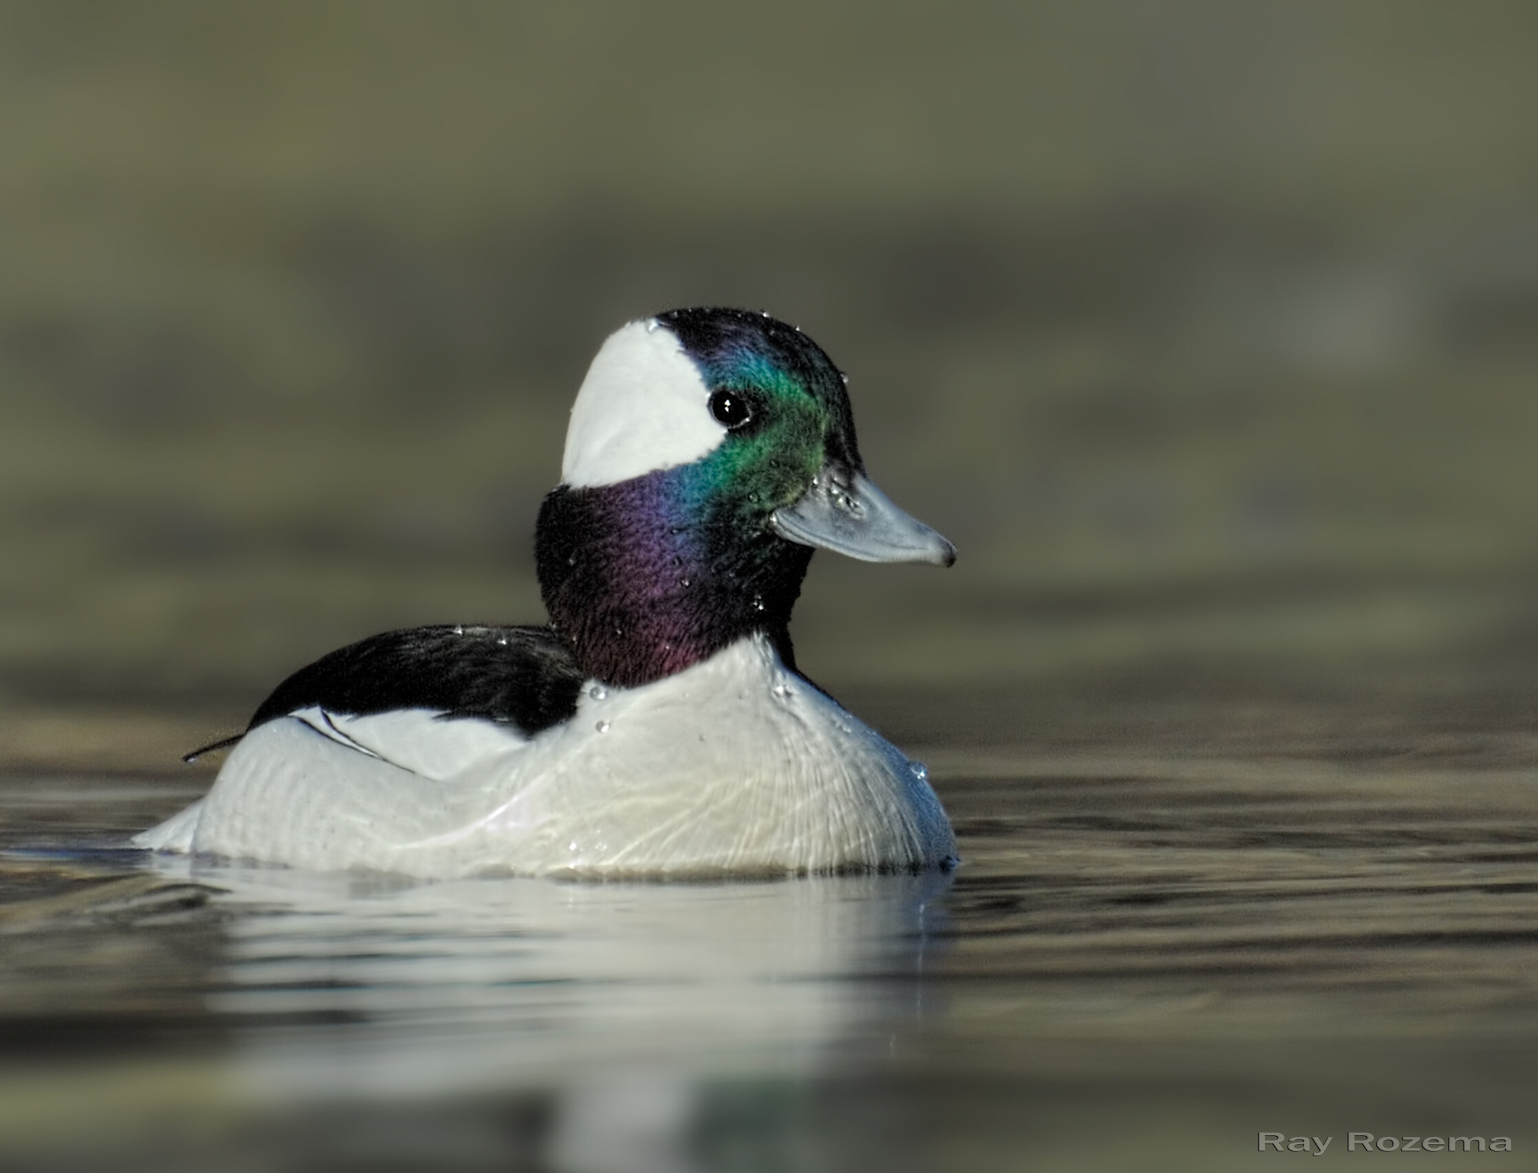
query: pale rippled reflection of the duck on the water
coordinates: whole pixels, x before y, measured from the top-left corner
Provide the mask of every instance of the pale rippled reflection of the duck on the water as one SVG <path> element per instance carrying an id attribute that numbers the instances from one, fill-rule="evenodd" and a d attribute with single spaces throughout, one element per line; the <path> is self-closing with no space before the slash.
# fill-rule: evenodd
<path id="1" fill-rule="evenodd" d="M 243 1099 L 548 1093 L 558 1170 L 694 1170 L 712 1087 L 838 1073 L 929 1012 L 949 873 L 406 881 L 157 856 L 229 913 Z M 831 1070 L 838 1056 L 838 1070 Z M 851 1058 L 854 1056 L 854 1059 Z"/>

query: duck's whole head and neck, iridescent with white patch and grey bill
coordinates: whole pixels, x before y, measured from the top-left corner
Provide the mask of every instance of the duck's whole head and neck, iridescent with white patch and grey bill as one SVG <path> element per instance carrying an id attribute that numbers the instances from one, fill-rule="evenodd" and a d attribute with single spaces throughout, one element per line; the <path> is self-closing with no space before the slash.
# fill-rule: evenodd
<path id="1" fill-rule="evenodd" d="M 844 377 L 764 314 L 675 309 L 598 351 L 535 532 L 551 623 L 592 678 L 680 672 L 789 621 L 815 547 L 950 566 L 871 483 Z"/>

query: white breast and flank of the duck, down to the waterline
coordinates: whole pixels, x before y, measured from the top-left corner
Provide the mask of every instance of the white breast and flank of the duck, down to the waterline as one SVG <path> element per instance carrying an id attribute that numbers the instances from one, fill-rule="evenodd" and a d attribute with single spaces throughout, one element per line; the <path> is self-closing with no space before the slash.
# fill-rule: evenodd
<path id="1" fill-rule="evenodd" d="M 468 744 L 464 723 L 437 724 Z M 640 689 L 589 686 L 571 721 L 434 775 L 283 718 L 235 747 L 201 810 L 140 842 L 421 876 L 934 867 L 955 850 L 923 767 L 758 636 Z"/>

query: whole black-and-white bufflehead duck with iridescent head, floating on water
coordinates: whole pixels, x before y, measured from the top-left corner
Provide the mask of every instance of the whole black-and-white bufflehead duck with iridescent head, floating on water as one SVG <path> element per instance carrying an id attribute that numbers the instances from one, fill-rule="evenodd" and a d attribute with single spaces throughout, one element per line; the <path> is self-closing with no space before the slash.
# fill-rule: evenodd
<path id="1" fill-rule="evenodd" d="M 621 327 L 540 509 L 549 626 L 417 627 L 317 660 L 209 793 L 134 842 L 418 876 L 950 867 L 923 766 L 791 649 L 814 547 L 955 561 L 866 478 L 844 383 L 764 314 Z"/>

